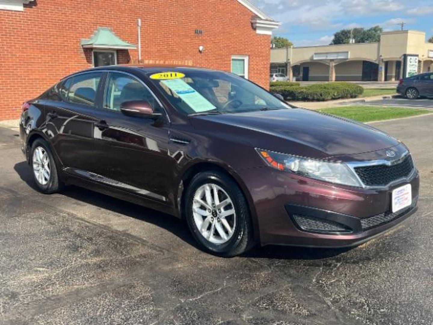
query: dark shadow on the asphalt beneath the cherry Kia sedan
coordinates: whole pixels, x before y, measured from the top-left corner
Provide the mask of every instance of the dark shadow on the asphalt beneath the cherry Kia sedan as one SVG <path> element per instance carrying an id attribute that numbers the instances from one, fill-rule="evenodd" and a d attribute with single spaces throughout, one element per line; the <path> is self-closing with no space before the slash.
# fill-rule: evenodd
<path id="1" fill-rule="evenodd" d="M 38 191 L 36 183 L 33 179 L 32 171 L 27 162 L 19 162 L 14 166 L 19 177 L 26 182 L 29 187 Z M 78 186 L 67 186 L 61 193 L 69 198 L 97 206 L 98 208 L 107 209 L 115 213 L 126 215 L 130 218 L 149 222 L 158 227 L 170 231 L 175 236 L 184 240 L 197 249 L 196 241 L 192 237 L 186 222 L 175 218 L 169 214 L 165 214 L 153 209 L 142 207 L 121 199 L 113 198 L 109 195 L 101 194 L 81 188 Z M 336 257 L 341 253 L 345 253 L 350 248 L 344 249 L 324 249 L 324 248 L 305 248 L 305 247 L 288 247 L 269 245 L 265 247 L 256 246 L 249 252 L 242 255 L 245 258 L 268 258 L 268 259 L 284 259 L 284 260 L 320 260 L 324 258 Z"/>

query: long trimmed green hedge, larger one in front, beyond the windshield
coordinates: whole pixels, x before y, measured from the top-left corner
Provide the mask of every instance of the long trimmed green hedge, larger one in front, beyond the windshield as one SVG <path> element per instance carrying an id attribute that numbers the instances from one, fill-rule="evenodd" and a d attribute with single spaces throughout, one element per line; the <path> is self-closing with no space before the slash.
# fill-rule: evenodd
<path id="1" fill-rule="evenodd" d="M 348 82 L 329 82 L 306 87 L 272 87 L 271 92 L 292 101 L 330 101 L 358 97 L 364 92 L 364 88 Z"/>

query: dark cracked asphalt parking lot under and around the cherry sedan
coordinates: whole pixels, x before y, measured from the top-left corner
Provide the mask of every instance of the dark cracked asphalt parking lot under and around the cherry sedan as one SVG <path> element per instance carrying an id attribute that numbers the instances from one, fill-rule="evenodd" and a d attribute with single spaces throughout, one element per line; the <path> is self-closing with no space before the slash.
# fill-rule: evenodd
<path id="1" fill-rule="evenodd" d="M 432 324 L 433 115 L 374 123 L 421 173 L 419 210 L 347 250 L 202 253 L 168 215 L 86 189 L 42 195 L 0 128 L 1 324 Z"/>

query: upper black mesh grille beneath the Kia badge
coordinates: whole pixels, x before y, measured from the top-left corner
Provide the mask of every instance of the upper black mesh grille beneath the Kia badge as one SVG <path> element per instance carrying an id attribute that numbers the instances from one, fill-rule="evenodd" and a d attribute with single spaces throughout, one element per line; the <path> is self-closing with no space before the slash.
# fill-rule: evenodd
<path id="1" fill-rule="evenodd" d="M 401 162 L 392 166 L 355 167 L 355 172 L 366 186 L 384 186 L 397 179 L 409 176 L 413 169 L 414 162 L 412 161 L 412 157 L 408 155 Z"/>

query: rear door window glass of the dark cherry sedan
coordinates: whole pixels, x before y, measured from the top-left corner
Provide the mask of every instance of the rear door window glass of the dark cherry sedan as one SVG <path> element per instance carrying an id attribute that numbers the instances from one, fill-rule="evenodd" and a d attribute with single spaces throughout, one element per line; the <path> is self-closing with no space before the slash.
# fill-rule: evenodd
<path id="1" fill-rule="evenodd" d="M 85 73 L 72 77 L 68 91 L 68 101 L 94 107 L 100 80 L 100 72 Z"/>

